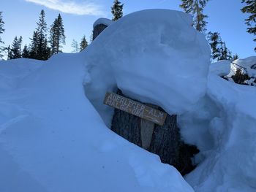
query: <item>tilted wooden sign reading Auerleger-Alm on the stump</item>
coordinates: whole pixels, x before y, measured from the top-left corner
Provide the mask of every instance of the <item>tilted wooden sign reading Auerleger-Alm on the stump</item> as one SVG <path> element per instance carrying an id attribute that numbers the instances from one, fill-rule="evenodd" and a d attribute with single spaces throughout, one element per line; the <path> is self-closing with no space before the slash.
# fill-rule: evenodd
<path id="1" fill-rule="evenodd" d="M 106 93 L 104 104 L 110 107 L 115 107 L 118 110 L 129 112 L 132 115 L 138 116 L 146 120 L 150 120 L 162 126 L 165 123 L 167 114 L 152 107 L 148 107 L 145 104 L 141 104 L 138 101 L 133 101 L 124 96 L 120 96 L 116 93 Z"/>

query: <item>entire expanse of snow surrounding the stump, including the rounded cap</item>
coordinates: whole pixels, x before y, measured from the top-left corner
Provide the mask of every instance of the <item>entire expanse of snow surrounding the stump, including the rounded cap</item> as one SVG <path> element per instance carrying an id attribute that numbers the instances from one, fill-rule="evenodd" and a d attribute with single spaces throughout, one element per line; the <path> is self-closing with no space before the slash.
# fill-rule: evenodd
<path id="1" fill-rule="evenodd" d="M 190 21 L 136 12 L 83 53 L 0 61 L 0 191 L 256 191 L 255 87 L 220 78 L 227 61 L 208 71 L 206 40 Z M 179 114 L 182 136 L 200 149 L 186 181 L 108 129 L 102 96 L 117 87 Z"/>

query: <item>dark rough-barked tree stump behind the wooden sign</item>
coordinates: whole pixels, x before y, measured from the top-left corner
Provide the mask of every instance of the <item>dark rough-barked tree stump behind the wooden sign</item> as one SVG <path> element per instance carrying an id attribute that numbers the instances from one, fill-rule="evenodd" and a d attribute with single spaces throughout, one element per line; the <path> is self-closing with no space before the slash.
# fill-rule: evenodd
<path id="1" fill-rule="evenodd" d="M 124 96 L 120 90 L 118 94 Z M 146 105 L 162 110 L 152 104 Z M 159 126 L 115 109 L 111 129 L 129 142 L 159 155 L 162 163 L 175 166 L 184 175 L 195 168 L 191 158 L 198 150 L 181 140 L 176 120 L 176 115 L 167 115 L 164 125 Z"/>

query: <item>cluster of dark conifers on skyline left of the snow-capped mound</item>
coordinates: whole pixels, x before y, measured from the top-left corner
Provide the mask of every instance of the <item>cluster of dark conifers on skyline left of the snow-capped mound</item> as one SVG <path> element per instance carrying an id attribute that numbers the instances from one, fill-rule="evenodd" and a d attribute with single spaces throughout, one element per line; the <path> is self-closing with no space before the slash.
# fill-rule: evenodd
<path id="1" fill-rule="evenodd" d="M 0 12 L 0 34 L 4 32 L 4 21 L 2 20 Z M 3 57 L 3 53 L 7 52 L 7 59 L 14 58 L 34 58 L 38 60 L 47 60 L 50 56 L 61 53 L 62 45 L 65 45 L 65 31 L 63 20 L 61 15 L 53 21 L 53 24 L 48 28 L 45 21 L 45 11 L 42 9 L 39 14 L 39 20 L 37 22 L 37 28 L 33 32 L 30 38 L 31 43 L 24 45 L 22 49 L 23 38 L 15 37 L 12 45 L 8 47 L 0 47 L 0 57 Z M 3 44 L 4 42 L 1 41 Z M 83 36 L 80 42 L 79 50 L 82 51 L 88 46 L 86 37 Z"/>

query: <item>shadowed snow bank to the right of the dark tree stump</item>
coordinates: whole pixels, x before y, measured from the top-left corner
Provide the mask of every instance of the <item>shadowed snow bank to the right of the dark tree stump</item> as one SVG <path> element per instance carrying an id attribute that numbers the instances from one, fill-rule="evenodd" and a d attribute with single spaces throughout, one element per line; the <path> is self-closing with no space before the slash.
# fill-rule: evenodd
<path id="1" fill-rule="evenodd" d="M 219 77 L 224 66 L 211 65 L 205 98 L 178 117 L 185 141 L 200 149 L 186 180 L 195 191 L 256 191 L 256 90 Z"/>

